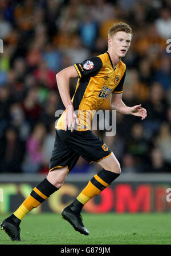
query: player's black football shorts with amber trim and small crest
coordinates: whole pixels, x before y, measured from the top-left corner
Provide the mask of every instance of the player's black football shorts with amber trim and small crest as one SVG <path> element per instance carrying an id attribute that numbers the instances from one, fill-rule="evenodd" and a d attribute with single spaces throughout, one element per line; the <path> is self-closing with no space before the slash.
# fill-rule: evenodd
<path id="1" fill-rule="evenodd" d="M 56 138 L 50 159 L 50 171 L 67 166 L 68 172 L 74 168 L 79 156 L 89 163 L 99 162 L 111 155 L 112 151 L 92 131 L 64 131 L 56 129 Z"/>

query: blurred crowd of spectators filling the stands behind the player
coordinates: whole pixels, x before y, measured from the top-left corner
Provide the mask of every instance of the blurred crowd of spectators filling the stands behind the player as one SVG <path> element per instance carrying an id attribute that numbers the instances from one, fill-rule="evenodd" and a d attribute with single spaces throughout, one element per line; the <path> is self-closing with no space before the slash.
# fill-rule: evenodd
<path id="1" fill-rule="evenodd" d="M 117 21 L 133 29 L 123 101 L 142 104 L 147 117 L 117 113 L 115 136 L 94 132 L 123 172 L 171 172 L 170 0 L 0 0 L 0 10 L 0 173 L 48 172 L 55 112 L 63 107 L 55 75 L 106 52 Z M 70 86 L 72 96 L 76 80 Z M 80 157 L 71 173 L 98 168 Z"/>

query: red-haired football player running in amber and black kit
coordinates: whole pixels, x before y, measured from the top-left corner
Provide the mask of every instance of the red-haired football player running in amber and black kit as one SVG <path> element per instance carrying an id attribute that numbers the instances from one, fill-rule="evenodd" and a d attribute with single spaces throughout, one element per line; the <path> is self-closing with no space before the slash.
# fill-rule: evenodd
<path id="1" fill-rule="evenodd" d="M 47 178 L 31 191 L 14 214 L 1 223 L 2 230 L 12 240 L 21 239 L 19 224 L 23 217 L 59 190 L 79 156 L 89 163 L 100 164 L 101 170 L 89 180 L 74 202 L 63 209 L 62 216 L 76 231 L 84 235 L 89 234 L 81 216 L 84 204 L 93 196 L 99 195 L 121 173 L 120 164 L 111 149 L 91 131 L 92 111 L 97 111 L 111 94 L 112 109 L 126 115 L 141 117 L 142 120 L 146 117 L 146 110 L 141 104 L 128 107 L 122 100 L 126 66 L 121 58 L 127 54 L 131 40 L 131 27 L 124 22 L 115 23 L 108 31 L 107 52 L 56 74 L 60 97 L 66 109 L 55 127 L 56 139 L 50 159 L 50 171 Z M 78 78 L 72 99 L 71 78 Z"/>

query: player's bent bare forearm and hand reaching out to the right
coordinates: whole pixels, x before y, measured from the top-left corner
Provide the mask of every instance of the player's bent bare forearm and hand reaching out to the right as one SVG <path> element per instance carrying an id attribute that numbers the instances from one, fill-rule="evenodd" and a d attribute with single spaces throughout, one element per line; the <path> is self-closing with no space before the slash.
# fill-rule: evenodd
<path id="1" fill-rule="evenodd" d="M 139 116 L 141 120 L 146 117 L 146 109 L 142 108 L 141 104 L 127 107 L 122 100 L 122 93 L 111 94 L 111 108 L 126 115 Z"/>

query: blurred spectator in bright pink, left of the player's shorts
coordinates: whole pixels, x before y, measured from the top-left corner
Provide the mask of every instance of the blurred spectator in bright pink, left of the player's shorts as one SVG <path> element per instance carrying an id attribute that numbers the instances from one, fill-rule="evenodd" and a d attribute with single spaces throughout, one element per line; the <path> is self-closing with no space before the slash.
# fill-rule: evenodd
<path id="1" fill-rule="evenodd" d="M 43 164 L 43 140 L 46 135 L 44 124 L 38 123 L 27 139 L 26 155 L 22 163 L 22 171 L 27 173 L 39 172 Z"/>

